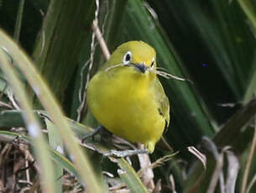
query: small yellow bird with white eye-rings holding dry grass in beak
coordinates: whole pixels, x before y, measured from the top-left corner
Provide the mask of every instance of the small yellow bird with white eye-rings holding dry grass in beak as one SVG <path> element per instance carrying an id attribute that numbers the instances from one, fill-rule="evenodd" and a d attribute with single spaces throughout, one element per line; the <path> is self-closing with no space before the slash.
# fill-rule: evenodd
<path id="1" fill-rule="evenodd" d="M 154 49 L 143 41 L 121 44 L 92 77 L 87 90 L 97 121 L 119 137 L 143 143 L 150 154 L 170 121 L 155 57 Z"/>

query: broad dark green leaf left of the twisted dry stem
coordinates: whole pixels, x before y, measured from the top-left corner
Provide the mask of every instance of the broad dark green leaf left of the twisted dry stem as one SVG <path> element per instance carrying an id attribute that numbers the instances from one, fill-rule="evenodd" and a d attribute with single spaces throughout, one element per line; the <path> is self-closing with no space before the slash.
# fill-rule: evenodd
<path id="1" fill-rule="evenodd" d="M 89 0 L 50 1 L 35 44 L 34 63 L 60 103 L 72 83 L 82 40 L 89 35 L 85 29 L 91 28 L 94 7 L 95 3 Z"/>

